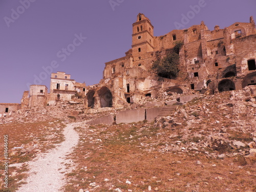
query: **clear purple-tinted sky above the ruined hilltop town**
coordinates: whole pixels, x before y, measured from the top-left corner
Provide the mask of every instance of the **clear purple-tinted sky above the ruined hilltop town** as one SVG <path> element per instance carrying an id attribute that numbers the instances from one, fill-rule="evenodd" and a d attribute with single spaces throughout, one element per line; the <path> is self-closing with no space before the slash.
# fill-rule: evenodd
<path id="1" fill-rule="evenodd" d="M 29 84 L 66 72 L 99 83 L 105 62 L 125 56 L 143 13 L 154 36 L 200 25 L 256 21 L 255 0 L 0 0 L 0 103 L 20 103 Z M 185 18 L 186 17 L 186 18 Z"/>

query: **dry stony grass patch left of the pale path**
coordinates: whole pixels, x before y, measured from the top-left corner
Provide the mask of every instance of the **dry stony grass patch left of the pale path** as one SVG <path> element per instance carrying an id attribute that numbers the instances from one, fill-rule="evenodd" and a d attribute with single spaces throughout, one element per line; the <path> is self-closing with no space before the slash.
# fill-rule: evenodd
<path id="1" fill-rule="evenodd" d="M 54 147 L 54 144 L 60 143 L 64 140 L 62 134 L 63 125 L 58 119 L 51 119 L 50 121 L 44 122 L 29 122 L 29 123 L 7 123 L 0 125 L 1 135 L 8 135 L 8 155 L 9 155 L 9 165 L 13 163 L 24 163 L 32 160 L 36 153 L 26 152 L 22 153 L 22 149 L 14 150 L 13 147 L 23 146 L 27 148 L 29 146 L 36 145 L 42 153 Z M 4 141 L 4 137 L 2 137 Z M 3 160 L 4 159 L 4 142 L 0 142 L 0 159 L 2 161 L 0 166 L 0 174 L 4 173 Z M 23 184 L 22 179 L 27 177 L 28 167 L 23 164 L 20 167 L 9 167 L 8 174 L 8 188 L 0 188 L 0 191 L 15 191 L 15 189 Z M 12 176 L 13 172 L 17 172 L 15 176 Z M 1 185 L 1 183 L 0 183 Z M 3 187 L 3 186 L 2 186 Z"/>

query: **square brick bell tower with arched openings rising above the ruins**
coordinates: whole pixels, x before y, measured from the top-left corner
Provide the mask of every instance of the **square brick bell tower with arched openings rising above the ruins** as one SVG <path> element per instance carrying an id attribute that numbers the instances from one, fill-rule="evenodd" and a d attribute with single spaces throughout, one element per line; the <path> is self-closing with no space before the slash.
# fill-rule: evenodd
<path id="1" fill-rule="evenodd" d="M 139 13 L 133 24 L 132 50 L 135 60 L 154 51 L 154 27 L 144 14 Z"/>

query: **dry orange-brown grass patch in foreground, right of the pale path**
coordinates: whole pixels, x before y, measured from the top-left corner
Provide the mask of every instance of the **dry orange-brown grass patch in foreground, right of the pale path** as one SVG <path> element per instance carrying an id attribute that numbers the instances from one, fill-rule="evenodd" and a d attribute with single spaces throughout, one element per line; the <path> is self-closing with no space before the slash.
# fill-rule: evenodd
<path id="1" fill-rule="evenodd" d="M 203 153 L 162 153 L 160 149 L 170 141 L 167 136 L 172 130 L 142 123 L 98 125 L 93 133 L 77 127 L 77 131 L 81 136 L 73 154 L 77 167 L 67 175 L 66 191 L 90 189 L 93 182 L 99 185 L 94 191 L 147 191 L 149 185 L 153 191 L 256 190 L 256 167 L 245 165 L 241 156 L 219 160 L 208 159 Z M 165 136 L 157 136 L 163 131 Z M 191 140 L 197 142 L 198 138 Z M 196 164 L 197 160 L 202 164 Z"/>

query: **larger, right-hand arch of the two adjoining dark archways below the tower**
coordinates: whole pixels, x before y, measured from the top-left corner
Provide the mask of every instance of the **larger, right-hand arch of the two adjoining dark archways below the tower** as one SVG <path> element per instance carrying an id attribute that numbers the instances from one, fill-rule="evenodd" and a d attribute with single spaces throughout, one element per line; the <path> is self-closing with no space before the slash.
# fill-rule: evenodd
<path id="1" fill-rule="evenodd" d="M 112 93 L 107 87 L 102 87 L 98 91 L 99 102 L 101 108 L 112 108 L 113 106 L 113 97 Z"/>

